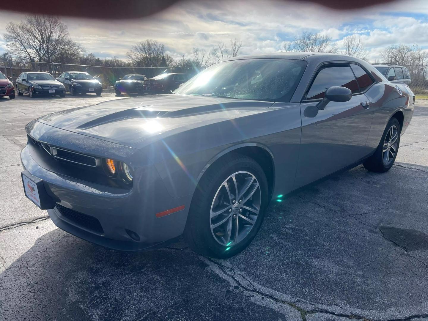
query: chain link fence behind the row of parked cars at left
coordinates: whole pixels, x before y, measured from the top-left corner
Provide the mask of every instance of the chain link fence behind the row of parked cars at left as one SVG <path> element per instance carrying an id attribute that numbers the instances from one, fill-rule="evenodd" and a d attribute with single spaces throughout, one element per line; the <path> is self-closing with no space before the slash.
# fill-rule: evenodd
<path id="1" fill-rule="evenodd" d="M 103 89 L 111 89 L 113 84 L 125 74 L 143 74 L 148 78 L 164 72 L 180 72 L 194 75 L 196 68 L 187 67 L 105 67 L 90 65 L 68 65 L 49 62 L 0 61 L 0 71 L 13 78 L 13 83 L 24 71 L 45 71 L 59 77 L 64 71 L 84 71 L 91 74 L 103 84 Z"/>

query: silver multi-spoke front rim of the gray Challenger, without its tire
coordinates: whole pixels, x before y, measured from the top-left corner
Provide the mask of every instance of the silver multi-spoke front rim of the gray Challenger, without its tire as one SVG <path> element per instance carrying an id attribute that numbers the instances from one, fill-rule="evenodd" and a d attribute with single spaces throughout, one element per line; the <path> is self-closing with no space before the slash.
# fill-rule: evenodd
<path id="1" fill-rule="evenodd" d="M 214 239 L 226 247 L 244 240 L 256 223 L 261 201 L 259 182 L 250 172 L 235 172 L 226 178 L 211 203 Z"/>

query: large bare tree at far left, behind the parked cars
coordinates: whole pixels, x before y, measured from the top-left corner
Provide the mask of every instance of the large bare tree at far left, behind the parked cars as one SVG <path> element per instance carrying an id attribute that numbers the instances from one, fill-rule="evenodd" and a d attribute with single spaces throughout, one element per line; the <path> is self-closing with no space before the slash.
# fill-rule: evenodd
<path id="1" fill-rule="evenodd" d="M 9 22 L 4 39 L 14 56 L 30 61 L 62 62 L 58 59 L 76 59 L 83 51 L 55 16 L 29 15 L 20 23 Z"/>

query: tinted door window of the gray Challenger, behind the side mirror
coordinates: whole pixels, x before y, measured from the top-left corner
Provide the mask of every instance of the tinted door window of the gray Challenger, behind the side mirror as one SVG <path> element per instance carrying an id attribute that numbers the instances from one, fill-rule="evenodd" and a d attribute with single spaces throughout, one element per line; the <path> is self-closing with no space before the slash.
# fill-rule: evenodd
<path id="1" fill-rule="evenodd" d="M 318 71 L 315 79 L 306 94 L 306 99 L 324 98 L 325 91 L 331 86 L 342 86 L 352 93 L 360 92 L 357 80 L 350 67 L 327 67 Z"/>

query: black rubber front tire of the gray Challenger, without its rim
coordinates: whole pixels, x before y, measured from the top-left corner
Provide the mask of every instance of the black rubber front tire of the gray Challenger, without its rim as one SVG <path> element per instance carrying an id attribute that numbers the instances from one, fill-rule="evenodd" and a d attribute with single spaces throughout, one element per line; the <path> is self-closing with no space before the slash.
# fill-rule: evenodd
<path id="1" fill-rule="evenodd" d="M 259 214 L 250 232 L 235 245 L 226 246 L 218 243 L 211 232 L 210 213 L 211 204 L 217 190 L 233 173 L 239 171 L 250 172 L 256 177 L 260 186 Z M 237 200 L 238 201 L 238 200 Z M 184 239 L 197 253 L 214 258 L 228 258 L 244 250 L 253 241 L 262 225 L 265 210 L 268 204 L 268 181 L 262 167 L 248 156 L 232 154 L 217 160 L 211 165 L 199 181 L 196 192 L 190 204 Z M 237 217 L 238 219 L 238 217 Z"/>

